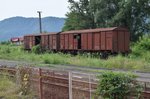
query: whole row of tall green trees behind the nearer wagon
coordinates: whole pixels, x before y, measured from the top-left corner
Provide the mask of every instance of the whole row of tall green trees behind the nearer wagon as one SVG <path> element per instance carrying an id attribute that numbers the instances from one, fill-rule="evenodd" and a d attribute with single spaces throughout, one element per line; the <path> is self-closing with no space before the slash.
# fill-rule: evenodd
<path id="1" fill-rule="evenodd" d="M 150 0 L 68 0 L 63 31 L 126 27 L 131 40 L 150 32 Z"/>

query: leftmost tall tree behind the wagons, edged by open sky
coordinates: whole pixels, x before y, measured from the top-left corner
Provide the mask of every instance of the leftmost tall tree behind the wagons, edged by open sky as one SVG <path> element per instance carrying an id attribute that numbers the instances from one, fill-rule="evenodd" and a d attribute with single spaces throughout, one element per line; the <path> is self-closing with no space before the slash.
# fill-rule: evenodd
<path id="1" fill-rule="evenodd" d="M 80 0 L 79 2 L 69 0 L 68 2 L 70 3 L 70 12 L 66 14 L 68 18 L 63 28 L 64 31 L 95 28 L 89 9 L 89 0 Z"/>

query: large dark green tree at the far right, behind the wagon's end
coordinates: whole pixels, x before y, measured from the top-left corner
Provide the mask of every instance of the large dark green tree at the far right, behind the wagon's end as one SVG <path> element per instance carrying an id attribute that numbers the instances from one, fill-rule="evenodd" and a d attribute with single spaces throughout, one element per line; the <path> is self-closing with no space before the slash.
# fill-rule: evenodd
<path id="1" fill-rule="evenodd" d="M 112 18 L 112 26 L 124 26 L 131 32 L 135 41 L 144 32 L 150 32 L 150 0 L 122 1 L 119 11 Z"/>

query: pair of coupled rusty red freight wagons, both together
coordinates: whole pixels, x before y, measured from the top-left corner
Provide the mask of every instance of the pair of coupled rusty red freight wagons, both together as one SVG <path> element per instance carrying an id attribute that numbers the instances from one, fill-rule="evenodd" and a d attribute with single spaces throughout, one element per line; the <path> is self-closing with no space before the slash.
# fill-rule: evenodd
<path id="1" fill-rule="evenodd" d="M 126 28 L 97 28 L 24 36 L 25 49 L 40 44 L 42 49 L 69 53 L 92 52 L 103 57 L 128 53 L 130 33 Z"/>

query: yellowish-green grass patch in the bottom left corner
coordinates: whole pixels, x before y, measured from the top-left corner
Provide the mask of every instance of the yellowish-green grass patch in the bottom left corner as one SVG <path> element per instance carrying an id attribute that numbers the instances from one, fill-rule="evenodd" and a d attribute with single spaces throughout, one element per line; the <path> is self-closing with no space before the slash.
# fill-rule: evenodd
<path id="1" fill-rule="evenodd" d="M 18 75 L 21 76 L 21 75 Z M 0 99 L 33 99 L 35 95 L 31 90 L 25 91 L 22 82 L 17 83 L 16 77 L 8 72 L 0 72 Z"/>

